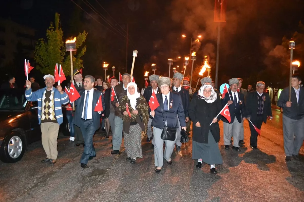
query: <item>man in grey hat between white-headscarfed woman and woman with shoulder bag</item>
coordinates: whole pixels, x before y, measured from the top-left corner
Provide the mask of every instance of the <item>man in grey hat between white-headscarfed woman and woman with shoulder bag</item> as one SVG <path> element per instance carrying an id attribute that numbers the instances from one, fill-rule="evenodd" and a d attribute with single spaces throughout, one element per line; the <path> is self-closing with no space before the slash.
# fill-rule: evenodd
<path id="1" fill-rule="evenodd" d="M 146 99 L 147 103 L 149 103 L 149 100 L 152 96 L 152 90 L 154 91 L 155 94 L 157 93 L 161 93 L 161 89 L 159 89 L 157 87 L 157 81 L 159 79 L 159 76 L 156 74 L 152 74 L 151 76 L 149 76 L 149 80 L 150 80 L 150 85 L 149 87 L 147 87 L 145 89 L 145 91 L 143 92 L 143 97 Z M 150 119 L 148 121 L 148 130 L 147 130 L 147 142 L 150 142 L 153 139 L 153 132 L 152 132 L 152 120 L 153 117 L 150 116 Z M 152 142 L 153 144 L 153 142 Z"/>

